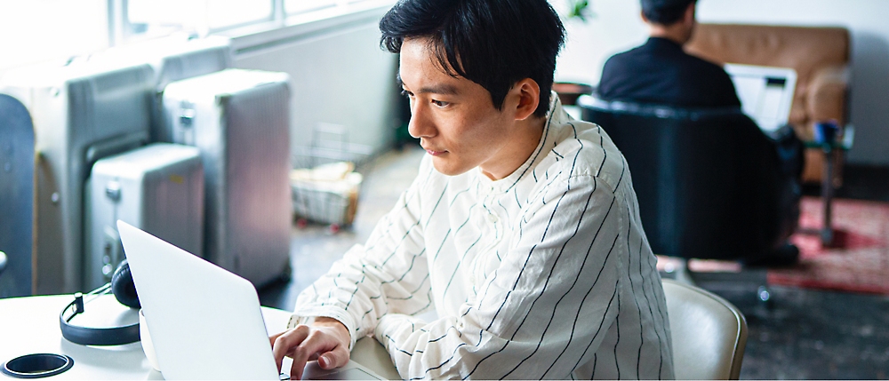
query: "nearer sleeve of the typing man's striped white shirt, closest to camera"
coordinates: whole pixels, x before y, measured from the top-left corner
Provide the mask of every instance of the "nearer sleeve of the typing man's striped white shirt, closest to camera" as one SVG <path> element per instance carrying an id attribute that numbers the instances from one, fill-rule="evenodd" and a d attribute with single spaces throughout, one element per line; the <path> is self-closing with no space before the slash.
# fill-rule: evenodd
<path id="1" fill-rule="evenodd" d="M 402 377 L 567 379 L 591 361 L 618 314 L 627 207 L 594 176 L 557 178 L 536 198 L 501 266 L 460 314 L 380 320 L 374 335 Z"/>

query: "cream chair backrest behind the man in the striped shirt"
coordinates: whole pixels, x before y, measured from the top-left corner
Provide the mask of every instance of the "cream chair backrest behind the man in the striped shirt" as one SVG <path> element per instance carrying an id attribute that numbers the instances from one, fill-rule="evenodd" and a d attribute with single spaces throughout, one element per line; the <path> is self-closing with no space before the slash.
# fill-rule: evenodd
<path id="1" fill-rule="evenodd" d="M 738 379 L 747 321 L 737 307 L 698 287 L 663 280 L 676 379 Z"/>

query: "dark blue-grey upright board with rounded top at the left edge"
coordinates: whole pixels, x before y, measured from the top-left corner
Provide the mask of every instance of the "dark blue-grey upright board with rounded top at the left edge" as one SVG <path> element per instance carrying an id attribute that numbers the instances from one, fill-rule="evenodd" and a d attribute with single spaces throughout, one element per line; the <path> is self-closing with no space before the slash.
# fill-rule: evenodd
<path id="1" fill-rule="evenodd" d="M 0 94 L 0 298 L 31 295 L 34 126 L 18 100 Z"/>

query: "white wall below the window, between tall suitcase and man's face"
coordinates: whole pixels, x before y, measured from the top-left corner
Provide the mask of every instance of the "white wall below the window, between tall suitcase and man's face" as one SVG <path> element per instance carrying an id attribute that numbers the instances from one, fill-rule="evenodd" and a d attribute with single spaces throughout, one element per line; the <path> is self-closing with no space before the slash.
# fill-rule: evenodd
<path id="1" fill-rule="evenodd" d="M 311 164 L 300 148 L 310 145 L 319 123 L 346 128 L 349 151 L 355 154 L 349 157 L 352 160 L 361 161 L 391 147 L 397 124 L 393 104 L 397 60 L 395 54 L 380 50 L 377 24 L 381 15 L 372 12 L 371 17 L 295 35 L 273 31 L 268 38 L 233 40 L 235 67 L 291 76 L 295 166 Z M 323 138 L 335 137 L 325 134 Z"/>

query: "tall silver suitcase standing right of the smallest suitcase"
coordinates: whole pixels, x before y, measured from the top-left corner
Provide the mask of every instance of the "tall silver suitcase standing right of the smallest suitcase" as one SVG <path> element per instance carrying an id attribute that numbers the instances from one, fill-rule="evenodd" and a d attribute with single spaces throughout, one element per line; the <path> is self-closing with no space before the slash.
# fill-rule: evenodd
<path id="1" fill-rule="evenodd" d="M 284 73 L 226 69 L 164 89 L 173 141 L 201 149 L 204 258 L 257 287 L 289 270 L 290 90 Z"/>

